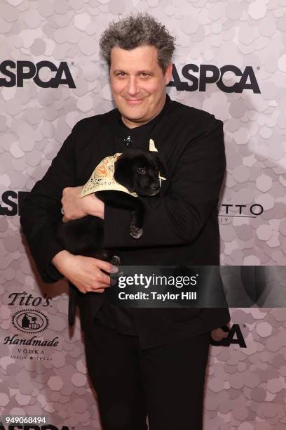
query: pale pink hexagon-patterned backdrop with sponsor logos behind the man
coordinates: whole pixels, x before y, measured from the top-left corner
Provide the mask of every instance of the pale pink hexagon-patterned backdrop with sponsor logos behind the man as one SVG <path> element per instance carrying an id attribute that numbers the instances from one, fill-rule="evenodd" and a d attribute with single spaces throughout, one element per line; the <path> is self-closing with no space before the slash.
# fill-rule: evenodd
<path id="1" fill-rule="evenodd" d="M 74 124 L 114 107 L 100 34 L 147 11 L 176 37 L 170 97 L 224 121 L 221 263 L 267 266 L 285 288 L 286 1 L 1 0 L 0 8 L 0 415 L 46 417 L 33 430 L 100 430 L 79 318 L 70 330 L 66 283 L 45 285 L 36 273 L 20 230 L 23 199 Z M 231 272 L 225 278 L 236 284 Z M 286 310 L 263 304 L 231 308 L 226 341 L 211 346 L 206 430 L 286 428 Z"/>

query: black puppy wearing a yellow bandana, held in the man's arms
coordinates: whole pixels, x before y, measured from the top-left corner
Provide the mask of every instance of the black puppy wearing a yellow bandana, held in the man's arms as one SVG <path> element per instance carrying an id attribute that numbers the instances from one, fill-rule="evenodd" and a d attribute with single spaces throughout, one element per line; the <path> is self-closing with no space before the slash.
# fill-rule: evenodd
<path id="1" fill-rule="evenodd" d="M 144 222 L 144 205 L 135 195 L 157 195 L 161 185 L 159 175 L 165 176 L 165 165 L 157 152 L 128 148 L 114 164 L 114 179 L 133 195 L 118 190 L 95 193 L 104 204 L 130 210 L 130 235 L 135 239 L 141 237 Z M 103 223 L 102 219 L 90 215 L 67 223 L 61 221 L 57 226 L 57 240 L 72 254 L 93 256 L 119 265 L 120 259 L 112 256 L 111 250 L 107 251 L 103 247 Z M 70 287 L 69 325 L 74 323 L 75 302 L 76 291 Z"/>

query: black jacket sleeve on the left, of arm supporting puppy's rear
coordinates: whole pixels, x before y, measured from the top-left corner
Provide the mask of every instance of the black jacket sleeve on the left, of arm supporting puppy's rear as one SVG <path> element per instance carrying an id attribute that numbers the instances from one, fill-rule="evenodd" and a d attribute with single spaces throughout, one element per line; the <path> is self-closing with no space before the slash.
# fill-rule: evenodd
<path id="1" fill-rule="evenodd" d="M 74 126 L 46 174 L 25 198 L 20 216 L 22 231 L 44 282 L 62 278 L 50 261 L 63 250 L 55 239 L 55 227 L 62 218 L 62 190 L 75 186 L 74 143 L 79 124 Z"/>

